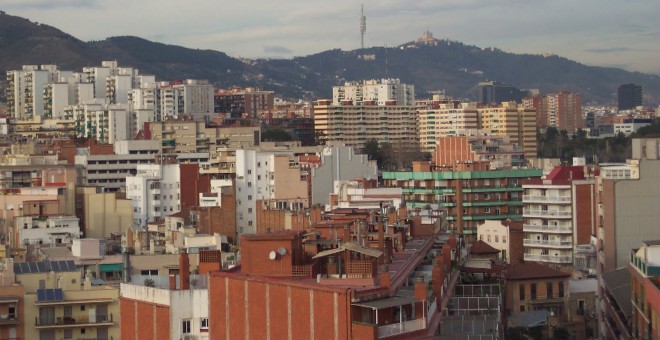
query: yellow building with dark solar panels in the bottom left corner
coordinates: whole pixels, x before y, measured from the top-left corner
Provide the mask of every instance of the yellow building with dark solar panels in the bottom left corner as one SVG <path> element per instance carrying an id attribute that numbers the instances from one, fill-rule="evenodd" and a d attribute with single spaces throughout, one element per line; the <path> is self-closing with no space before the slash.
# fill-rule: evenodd
<path id="1" fill-rule="evenodd" d="M 119 339 L 119 290 L 82 279 L 73 261 L 15 263 L 26 339 Z M 82 282 L 81 282 L 82 280 Z"/>

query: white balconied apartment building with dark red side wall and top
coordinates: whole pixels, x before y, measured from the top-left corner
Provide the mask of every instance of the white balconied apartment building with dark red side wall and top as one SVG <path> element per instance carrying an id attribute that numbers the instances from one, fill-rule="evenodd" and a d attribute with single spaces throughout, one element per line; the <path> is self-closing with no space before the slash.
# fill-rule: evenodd
<path id="1" fill-rule="evenodd" d="M 595 180 L 585 168 L 558 166 L 543 179 L 523 182 L 525 261 L 570 271 L 578 246 L 590 246 L 596 231 Z"/>

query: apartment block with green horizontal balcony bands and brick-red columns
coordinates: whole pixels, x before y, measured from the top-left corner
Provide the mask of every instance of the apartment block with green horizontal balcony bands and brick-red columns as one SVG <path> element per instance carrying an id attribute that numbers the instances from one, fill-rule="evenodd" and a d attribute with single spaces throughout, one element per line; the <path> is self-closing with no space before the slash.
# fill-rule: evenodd
<path id="1" fill-rule="evenodd" d="M 432 169 L 416 162 L 413 171 L 383 172 L 386 187 L 403 188 L 409 208 L 446 210 L 449 228 L 474 241 L 477 226 L 486 220 L 521 220 L 522 181 L 540 178 L 541 170 L 489 170 L 488 163 L 454 163 Z"/>

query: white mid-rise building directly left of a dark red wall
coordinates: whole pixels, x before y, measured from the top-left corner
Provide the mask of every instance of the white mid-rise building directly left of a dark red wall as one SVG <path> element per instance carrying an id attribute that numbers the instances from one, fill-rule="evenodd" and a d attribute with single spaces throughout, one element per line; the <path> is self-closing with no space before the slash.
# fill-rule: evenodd
<path id="1" fill-rule="evenodd" d="M 139 164 L 137 174 L 126 177 L 135 225 L 146 226 L 181 210 L 180 178 L 179 164 Z"/>

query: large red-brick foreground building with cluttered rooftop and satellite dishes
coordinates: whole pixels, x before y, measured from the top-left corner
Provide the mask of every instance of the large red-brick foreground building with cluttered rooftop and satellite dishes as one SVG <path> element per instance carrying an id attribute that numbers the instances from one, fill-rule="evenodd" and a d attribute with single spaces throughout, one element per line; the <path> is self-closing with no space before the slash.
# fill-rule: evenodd
<path id="1" fill-rule="evenodd" d="M 376 241 L 380 246 L 370 246 L 357 223 L 350 223 L 339 246 L 318 250 L 305 244 L 320 245 L 325 239 L 303 241 L 299 232 L 243 236 L 240 272 L 210 274 L 210 337 L 433 336 L 458 278 L 445 267 L 452 252 L 459 253 L 456 239 L 434 252 L 434 237 L 413 237 L 394 246 L 385 241 L 383 225 L 376 228 L 384 236 Z M 387 234 L 395 236 L 393 229 Z M 388 263 L 386 252 L 396 260 Z M 432 265 L 422 264 L 427 255 Z"/>

